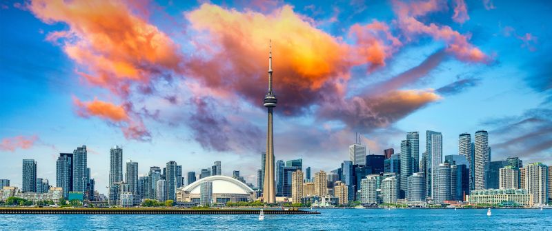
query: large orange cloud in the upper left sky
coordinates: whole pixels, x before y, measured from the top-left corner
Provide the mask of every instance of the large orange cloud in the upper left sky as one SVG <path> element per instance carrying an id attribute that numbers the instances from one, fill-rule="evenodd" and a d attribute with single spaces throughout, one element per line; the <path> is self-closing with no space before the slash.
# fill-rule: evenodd
<path id="1" fill-rule="evenodd" d="M 69 29 L 48 34 L 86 72 L 90 83 L 126 95 L 132 83 L 147 85 L 163 70 L 179 70 L 178 46 L 121 1 L 34 0 L 30 10 L 46 23 Z"/>

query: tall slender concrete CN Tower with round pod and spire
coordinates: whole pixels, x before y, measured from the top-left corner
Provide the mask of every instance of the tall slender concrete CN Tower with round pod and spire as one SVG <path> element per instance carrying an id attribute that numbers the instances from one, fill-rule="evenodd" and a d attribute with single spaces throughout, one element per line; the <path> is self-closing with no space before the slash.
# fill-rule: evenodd
<path id="1" fill-rule="evenodd" d="M 273 137 L 273 110 L 278 100 L 272 90 L 272 43 L 268 45 L 268 92 L 264 96 L 264 106 L 268 109 L 268 129 L 266 131 L 266 161 L 264 162 L 263 201 L 276 202 L 274 182 L 274 137 Z"/>

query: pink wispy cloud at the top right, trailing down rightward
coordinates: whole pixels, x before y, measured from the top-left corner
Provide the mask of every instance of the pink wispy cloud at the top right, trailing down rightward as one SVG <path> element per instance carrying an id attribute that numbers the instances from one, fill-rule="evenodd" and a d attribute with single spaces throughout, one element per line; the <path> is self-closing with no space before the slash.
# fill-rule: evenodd
<path id="1" fill-rule="evenodd" d="M 393 8 L 397 14 L 397 23 L 407 39 L 412 40 L 420 34 L 427 34 L 435 40 L 446 43 L 446 51 L 451 52 L 462 61 L 488 63 L 491 59 L 479 48 L 468 42 L 469 36 L 460 34 L 450 26 L 437 26 L 435 23 L 426 25 L 417 20 L 428 12 L 434 12 L 446 8 L 443 1 L 414 1 L 404 3 L 393 1 Z"/>

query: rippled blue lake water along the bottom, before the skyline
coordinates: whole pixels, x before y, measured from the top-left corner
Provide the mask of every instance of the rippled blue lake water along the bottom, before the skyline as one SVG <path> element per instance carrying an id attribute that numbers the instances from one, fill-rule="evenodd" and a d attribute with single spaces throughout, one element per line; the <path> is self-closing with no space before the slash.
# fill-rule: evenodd
<path id="1" fill-rule="evenodd" d="M 0 214 L 0 230 L 552 230 L 552 210 L 327 209 L 322 214 Z"/>

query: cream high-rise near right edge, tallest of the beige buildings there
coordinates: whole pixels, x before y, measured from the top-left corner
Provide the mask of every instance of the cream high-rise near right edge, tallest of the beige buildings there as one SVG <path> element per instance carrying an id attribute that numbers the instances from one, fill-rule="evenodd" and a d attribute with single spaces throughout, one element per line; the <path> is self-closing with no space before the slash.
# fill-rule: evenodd
<path id="1" fill-rule="evenodd" d="M 525 170 L 525 188 L 529 194 L 533 194 L 533 203 L 545 205 L 548 202 L 548 166 L 544 163 L 529 163 Z"/>

